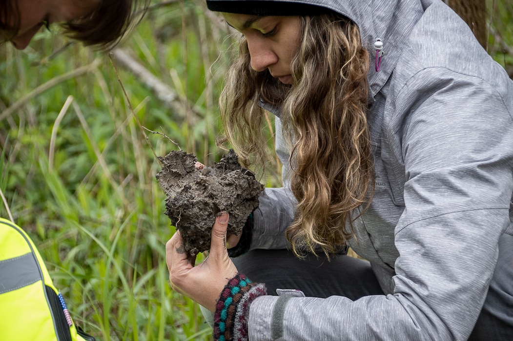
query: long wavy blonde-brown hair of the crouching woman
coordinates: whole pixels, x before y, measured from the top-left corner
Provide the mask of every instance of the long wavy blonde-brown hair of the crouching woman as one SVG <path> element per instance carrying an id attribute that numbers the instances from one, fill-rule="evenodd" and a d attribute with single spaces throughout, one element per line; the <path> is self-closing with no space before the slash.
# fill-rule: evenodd
<path id="1" fill-rule="evenodd" d="M 264 110 L 258 100 L 281 107 L 291 150 L 291 189 L 298 200 L 286 236 L 300 257 L 307 251 L 317 254 L 319 248 L 329 257 L 354 236 L 352 222 L 367 209 L 373 193 L 369 56 L 356 24 L 336 13 L 301 17 L 301 27 L 291 86 L 267 70 L 252 70 L 241 37 L 220 104 L 225 139 L 245 166 L 266 160 Z"/>

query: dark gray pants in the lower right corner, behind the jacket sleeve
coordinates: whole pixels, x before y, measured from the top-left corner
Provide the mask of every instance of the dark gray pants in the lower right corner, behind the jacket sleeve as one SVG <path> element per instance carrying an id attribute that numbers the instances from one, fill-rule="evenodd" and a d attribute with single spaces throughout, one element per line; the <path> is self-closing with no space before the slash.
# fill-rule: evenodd
<path id="1" fill-rule="evenodd" d="M 513 236 L 499 241 L 499 259 L 471 341 L 513 340 Z"/>

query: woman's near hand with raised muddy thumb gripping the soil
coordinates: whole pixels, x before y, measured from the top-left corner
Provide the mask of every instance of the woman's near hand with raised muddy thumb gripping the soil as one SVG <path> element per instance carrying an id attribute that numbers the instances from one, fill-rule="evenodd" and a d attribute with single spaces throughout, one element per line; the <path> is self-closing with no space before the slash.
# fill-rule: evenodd
<path id="1" fill-rule="evenodd" d="M 226 229 L 229 215 L 223 212 L 215 219 L 212 227 L 210 252 L 205 261 L 194 266 L 196 257 L 181 250 L 183 245 L 180 232 L 166 243 L 166 261 L 171 288 L 190 297 L 210 311 L 228 281 L 237 274 L 237 268 L 226 251 Z"/>

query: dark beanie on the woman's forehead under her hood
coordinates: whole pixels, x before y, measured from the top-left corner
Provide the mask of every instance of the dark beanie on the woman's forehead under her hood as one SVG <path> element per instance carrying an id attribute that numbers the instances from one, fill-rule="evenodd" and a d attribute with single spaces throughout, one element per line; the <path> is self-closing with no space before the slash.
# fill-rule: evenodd
<path id="1" fill-rule="evenodd" d="M 207 0 L 207 7 L 214 12 L 249 15 L 317 15 L 330 10 L 310 4 L 269 0 Z"/>

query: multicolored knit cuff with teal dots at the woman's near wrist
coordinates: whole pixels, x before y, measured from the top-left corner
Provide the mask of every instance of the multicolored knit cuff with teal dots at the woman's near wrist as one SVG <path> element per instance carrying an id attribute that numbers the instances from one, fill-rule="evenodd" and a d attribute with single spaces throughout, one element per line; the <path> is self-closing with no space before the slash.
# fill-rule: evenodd
<path id="1" fill-rule="evenodd" d="M 214 313 L 214 340 L 247 341 L 249 305 L 267 294 L 265 285 L 252 283 L 242 273 L 232 278 L 221 292 Z"/>

